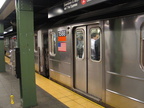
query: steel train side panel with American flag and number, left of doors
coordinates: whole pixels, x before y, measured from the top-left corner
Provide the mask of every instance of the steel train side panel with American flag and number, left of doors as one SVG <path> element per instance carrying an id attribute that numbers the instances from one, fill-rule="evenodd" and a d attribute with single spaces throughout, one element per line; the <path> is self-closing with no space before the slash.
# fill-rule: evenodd
<path id="1" fill-rule="evenodd" d="M 50 29 L 49 38 L 50 78 L 72 87 L 72 37 L 68 26 Z"/>

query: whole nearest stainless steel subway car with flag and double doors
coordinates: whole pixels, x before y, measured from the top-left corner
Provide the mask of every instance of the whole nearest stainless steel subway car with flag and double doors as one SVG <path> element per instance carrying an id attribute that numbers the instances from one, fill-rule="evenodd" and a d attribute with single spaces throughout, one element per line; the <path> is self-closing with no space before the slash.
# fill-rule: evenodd
<path id="1" fill-rule="evenodd" d="M 115 108 L 144 107 L 144 15 L 55 27 L 48 35 L 50 78 Z"/>

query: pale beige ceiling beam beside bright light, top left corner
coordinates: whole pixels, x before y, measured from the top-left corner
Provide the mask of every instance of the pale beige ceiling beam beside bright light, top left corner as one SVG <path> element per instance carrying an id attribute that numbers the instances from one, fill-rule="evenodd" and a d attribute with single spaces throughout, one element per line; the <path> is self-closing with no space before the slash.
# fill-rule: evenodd
<path id="1" fill-rule="evenodd" d="M 15 10 L 15 0 L 11 0 L 6 8 L 0 14 L 0 20 L 4 20 Z"/>

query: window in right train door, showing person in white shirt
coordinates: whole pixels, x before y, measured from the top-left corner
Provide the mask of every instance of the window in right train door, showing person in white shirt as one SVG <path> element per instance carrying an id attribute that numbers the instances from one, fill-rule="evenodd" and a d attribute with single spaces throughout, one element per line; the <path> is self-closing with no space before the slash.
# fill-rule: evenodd
<path id="1" fill-rule="evenodd" d="M 100 61 L 100 35 L 101 29 L 99 27 L 90 28 L 91 60 Z"/>

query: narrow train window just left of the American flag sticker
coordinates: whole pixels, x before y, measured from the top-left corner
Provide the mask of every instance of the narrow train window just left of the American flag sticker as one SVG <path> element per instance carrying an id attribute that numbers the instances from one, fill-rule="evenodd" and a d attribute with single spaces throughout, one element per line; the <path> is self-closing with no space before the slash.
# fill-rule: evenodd
<path id="1" fill-rule="evenodd" d="M 50 54 L 51 56 L 56 55 L 56 33 L 50 33 Z"/>

